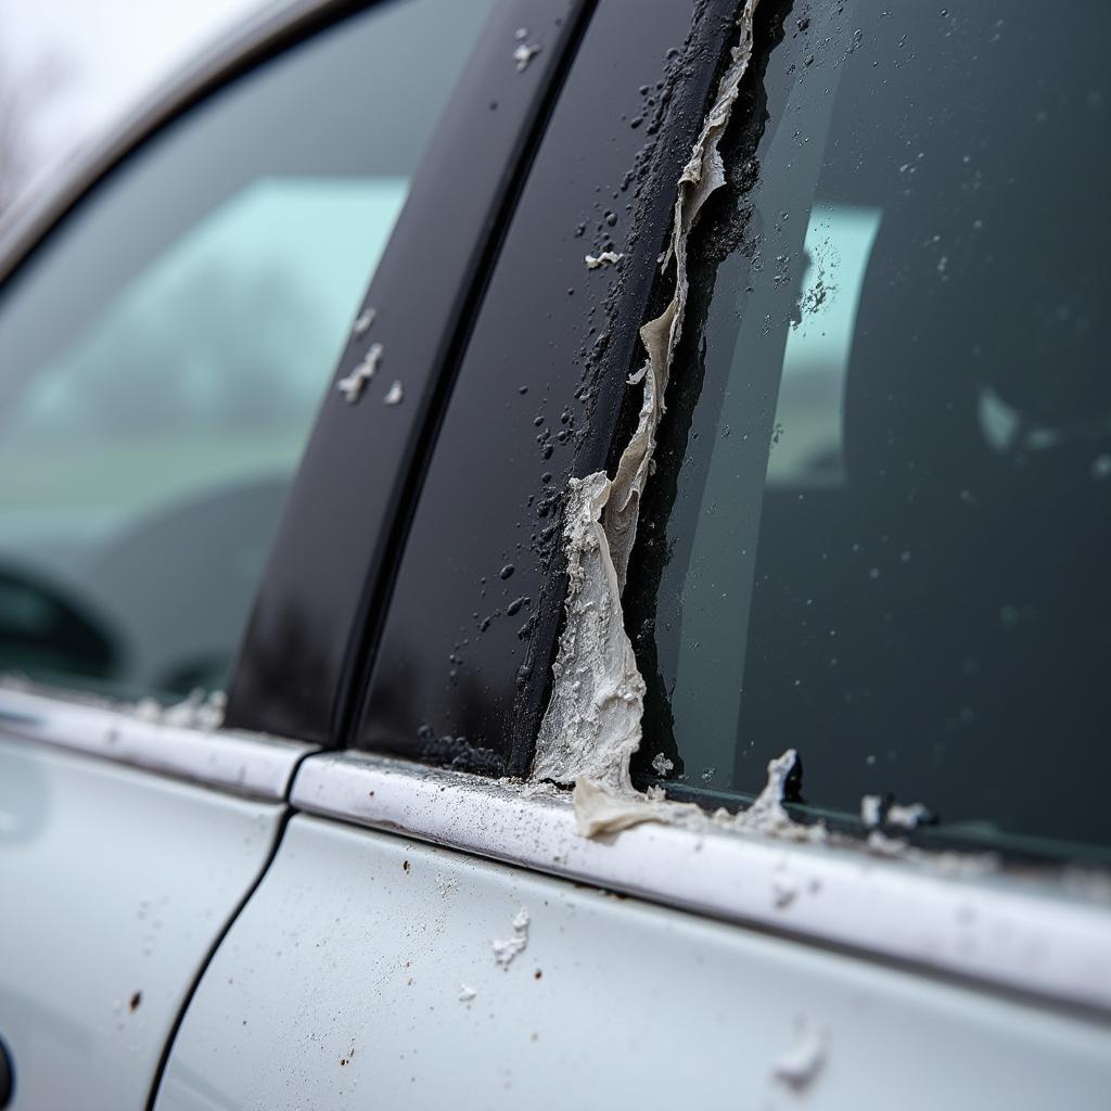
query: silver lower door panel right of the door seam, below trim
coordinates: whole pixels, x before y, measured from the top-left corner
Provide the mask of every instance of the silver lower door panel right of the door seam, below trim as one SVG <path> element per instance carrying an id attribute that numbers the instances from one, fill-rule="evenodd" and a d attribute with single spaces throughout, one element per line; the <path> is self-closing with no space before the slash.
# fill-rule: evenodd
<path id="1" fill-rule="evenodd" d="M 157 1108 L 1080 1109 L 1109 1062 L 1101 1023 L 298 815 Z"/>

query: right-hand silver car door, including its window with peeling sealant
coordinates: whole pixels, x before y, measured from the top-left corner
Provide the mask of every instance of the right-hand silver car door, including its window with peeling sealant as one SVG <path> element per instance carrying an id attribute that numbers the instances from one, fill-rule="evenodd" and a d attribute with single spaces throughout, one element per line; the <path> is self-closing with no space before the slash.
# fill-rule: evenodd
<path id="1" fill-rule="evenodd" d="M 1085 12 L 753 9 L 593 6 L 374 564 L 347 750 L 298 769 L 159 1108 L 1103 1104 L 1107 824 L 1034 678 L 1061 660 L 1069 721 L 1104 722 L 1072 327 L 1104 253 L 1054 267 L 1105 229 L 1008 227 L 1099 211 Z M 1061 330 L 1015 347 L 1001 304 Z M 1038 361 L 1020 401 L 1023 344 L 1069 390 Z"/>

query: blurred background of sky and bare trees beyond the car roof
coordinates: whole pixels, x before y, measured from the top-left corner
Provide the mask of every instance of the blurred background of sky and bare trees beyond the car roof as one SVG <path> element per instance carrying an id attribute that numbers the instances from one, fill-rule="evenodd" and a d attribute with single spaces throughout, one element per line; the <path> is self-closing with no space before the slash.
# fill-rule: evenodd
<path id="1" fill-rule="evenodd" d="M 0 0 L 0 226 L 191 57 L 276 6 Z"/>

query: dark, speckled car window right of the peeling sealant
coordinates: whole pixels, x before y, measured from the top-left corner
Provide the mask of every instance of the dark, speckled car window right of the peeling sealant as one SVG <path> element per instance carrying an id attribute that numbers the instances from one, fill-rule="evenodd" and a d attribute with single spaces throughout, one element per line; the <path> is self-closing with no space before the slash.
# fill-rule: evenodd
<path id="1" fill-rule="evenodd" d="M 641 774 L 735 804 L 794 748 L 802 813 L 1094 853 L 1111 12 L 820 7 L 762 14 L 692 240 L 624 595 Z"/>

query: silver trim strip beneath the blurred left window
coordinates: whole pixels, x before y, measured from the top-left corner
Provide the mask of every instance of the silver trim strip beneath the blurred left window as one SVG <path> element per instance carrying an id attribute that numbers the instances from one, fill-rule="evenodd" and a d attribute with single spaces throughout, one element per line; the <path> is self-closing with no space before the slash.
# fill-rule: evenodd
<path id="1" fill-rule="evenodd" d="M 152 703 L 86 703 L 0 688 L 0 738 L 16 737 L 222 788 L 284 799 L 293 769 L 314 744 L 210 731 L 211 700 L 168 710 Z M 192 728 L 184 723 L 189 709 Z M 213 708 L 214 712 L 214 708 Z M 169 719 L 169 720 L 168 720 Z"/>

